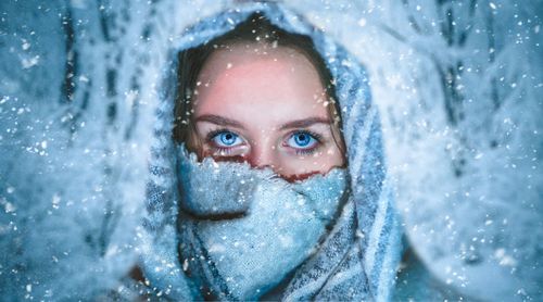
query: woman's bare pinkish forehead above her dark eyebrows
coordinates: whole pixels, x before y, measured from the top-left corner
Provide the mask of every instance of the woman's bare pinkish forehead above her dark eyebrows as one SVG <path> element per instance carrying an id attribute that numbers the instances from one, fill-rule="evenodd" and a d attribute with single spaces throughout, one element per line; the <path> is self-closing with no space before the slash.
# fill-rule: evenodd
<path id="1" fill-rule="evenodd" d="M 195 89 L 197 115 L 220 113 L 237 118 L 243 112 L 266 113 L 282 121 L 327 116 L 317 70 L 304 54 L 288 47 L 237 43 L 216 50 L 205 62 Z M 275 116 L 276 112 L 281 115 Z"/>

